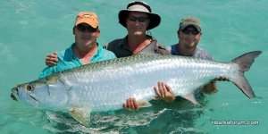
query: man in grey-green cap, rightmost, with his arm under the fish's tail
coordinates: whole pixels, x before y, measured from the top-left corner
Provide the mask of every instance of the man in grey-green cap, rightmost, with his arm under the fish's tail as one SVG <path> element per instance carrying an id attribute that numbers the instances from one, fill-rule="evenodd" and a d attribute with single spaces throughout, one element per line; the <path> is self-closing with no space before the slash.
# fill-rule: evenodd
<path id="1" fill-rule="evenodd" d="M 213 60 L 213 57 L 210 54 L 200 47 L 197 47 L 202 37 L 201 23 L 197 18 L 189 16 L 182 19 L 180 21 L 177 35 L 179 43 L 168 47 L 171 54 Z M 220 77 L 215 80 L 225 81 L 226 78 Z M 215 80 L 202 88 L 202 91 L 205 93 L 214 93 L 217 90 Z"/>

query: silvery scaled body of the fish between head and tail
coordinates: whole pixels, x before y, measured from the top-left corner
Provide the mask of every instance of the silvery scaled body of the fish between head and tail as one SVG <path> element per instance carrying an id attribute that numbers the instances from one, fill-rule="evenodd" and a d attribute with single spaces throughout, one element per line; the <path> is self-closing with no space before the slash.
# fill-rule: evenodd
<path id="1" fill-rule="evenodd" d="M 121 109 L 133 96 L 150 100 L 157 81 L 172 87 L 176 96 L 192 93 L 217 76 L 234 78 L 235 63 L 218 63 L 180 56 L 136 55 L 62 71 L 71 85 L 68 106 L 90 107 L 92 111 Z"/>

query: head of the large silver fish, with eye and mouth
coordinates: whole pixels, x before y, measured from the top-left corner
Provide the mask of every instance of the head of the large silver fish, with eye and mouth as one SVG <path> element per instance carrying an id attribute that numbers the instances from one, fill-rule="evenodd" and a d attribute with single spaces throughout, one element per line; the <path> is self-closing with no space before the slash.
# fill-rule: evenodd
<path id="1" fill-rule="evenodd" d="M 27 105 L 45 108 L 63 106 L 68 101 L 64 84 L 60 80 L 47 82 L 47 78 L 17 85 L 12 88 L 11 97 Z"/>

